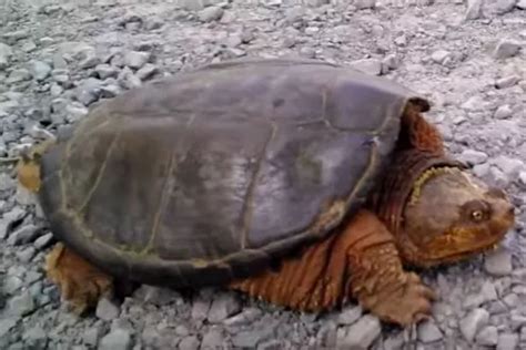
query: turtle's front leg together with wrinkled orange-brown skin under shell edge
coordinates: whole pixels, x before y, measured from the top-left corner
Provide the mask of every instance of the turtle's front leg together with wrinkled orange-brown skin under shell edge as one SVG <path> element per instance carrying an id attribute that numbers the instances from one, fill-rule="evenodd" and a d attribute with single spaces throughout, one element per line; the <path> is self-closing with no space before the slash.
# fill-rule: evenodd
<path id="1" fill-rule="evenodd" d="M 337 235 L 266 271 L 230 286 L 301 311 L 323 311 L 351 298 L 380 319 L 411 326 L 431 315 L 433 291 L 403 269 L 394 238 L 372 213 L 360 212 Z"/>

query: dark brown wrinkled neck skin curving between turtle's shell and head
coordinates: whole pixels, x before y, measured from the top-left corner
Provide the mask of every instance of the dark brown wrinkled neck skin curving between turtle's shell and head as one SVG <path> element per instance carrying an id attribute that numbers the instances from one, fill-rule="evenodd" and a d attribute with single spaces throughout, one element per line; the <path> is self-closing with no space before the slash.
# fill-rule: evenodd
<path id="1" fill-rule="evenodd" d="M 409 202 L 416 182 L 427 169 L 465 168 L 465 165 L 442 154 L 417 150 L 398 151 L 394 154 L 392 162 L 371 197 L 371 206 L 393 234 L 404 264 L 415 267 L 429 266 L 428 259 L 404 231 L 405 206 Z"/>

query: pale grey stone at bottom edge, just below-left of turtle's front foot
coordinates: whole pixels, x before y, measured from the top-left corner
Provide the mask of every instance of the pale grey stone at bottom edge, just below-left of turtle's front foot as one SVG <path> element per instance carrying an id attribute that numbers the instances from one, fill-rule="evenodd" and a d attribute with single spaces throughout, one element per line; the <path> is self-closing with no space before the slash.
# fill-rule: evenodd
<path id="1" fill-rule="evenodd" d="M 378 318 L 367 313 L 354 325 L 347 327 L 346 330 L 338 331 L 336 346 L 352 349 L 368 349 L 381 332 L 382 328 Z"/>

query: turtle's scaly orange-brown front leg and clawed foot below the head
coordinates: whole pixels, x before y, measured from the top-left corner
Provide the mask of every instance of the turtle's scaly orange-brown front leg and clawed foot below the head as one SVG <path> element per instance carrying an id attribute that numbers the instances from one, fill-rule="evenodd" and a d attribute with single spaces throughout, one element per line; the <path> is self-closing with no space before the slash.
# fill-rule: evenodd
<path id="1" fill-rule="evenodd" d="M 364 309 L 401 326 L 426 319 L 435 294 L 416 274 L 404 270 L 384 224 L 374 214 L 362 212 L 346 227 L 346 234 L 350 291 Z"/>

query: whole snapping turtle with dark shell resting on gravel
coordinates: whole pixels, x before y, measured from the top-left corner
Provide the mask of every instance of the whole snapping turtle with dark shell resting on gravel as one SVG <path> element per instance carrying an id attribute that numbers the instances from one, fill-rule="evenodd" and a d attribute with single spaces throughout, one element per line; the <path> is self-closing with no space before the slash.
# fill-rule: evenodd
<path id="1" fill-rule="evenodd" d="M 353 298 L 412 325 L 406 266 L 494 247 L 506 194 L 446 155 L 429 103 L 315 60 L 213 63 L 128 91 L 29 152 L 59 243 L 48 276 L 81 312 L 118 281 L 225 286 L 302 311 Z"/>

